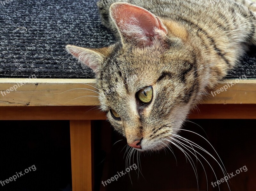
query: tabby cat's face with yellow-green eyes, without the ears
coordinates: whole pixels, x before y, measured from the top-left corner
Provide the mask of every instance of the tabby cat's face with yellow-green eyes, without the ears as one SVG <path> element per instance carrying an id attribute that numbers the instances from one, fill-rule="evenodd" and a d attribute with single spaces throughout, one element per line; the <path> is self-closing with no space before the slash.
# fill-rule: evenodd
<path id="1" fill-rule="evenodd" d="M 97 82 L 108 120 L 128 144 L 141 140 L 142 150 L 159 149 L 166 142 L 164 138 L 177 132 L 197 86 L 191 61 L 170 49 L 159 52 L 158 48 L 164 50 L 114 50 L 103 63 Z"/>

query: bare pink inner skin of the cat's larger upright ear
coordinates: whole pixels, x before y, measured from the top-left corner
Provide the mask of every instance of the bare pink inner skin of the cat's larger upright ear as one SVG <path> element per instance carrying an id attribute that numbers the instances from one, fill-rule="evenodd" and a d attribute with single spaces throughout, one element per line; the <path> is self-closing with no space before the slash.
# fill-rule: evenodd
<path id="1" fill-rule="evenodd" d="M 160 29 L 165 34 L 167 34 L 166 29 L 162 26 L 162 23 L 148 10 L 127 3 L 117 3 L 112 7 L 112 16 L 116 21 L 117 26 L 120 28 L 121 32 L 129 33 L 131 37 L 141 36 L 148 37 L 148 41 L 156 35 L 154 29 Z M 135 19 L 135 20 L 134 20 Z M 130 24 L 130 25 L 125 25 Z M 130 26 L 138 26 L 143 30 L 144 34 L 138 34 L 136 28 L 131 28 Z M 129 26 L 129 27 L 127 27 Z"/>

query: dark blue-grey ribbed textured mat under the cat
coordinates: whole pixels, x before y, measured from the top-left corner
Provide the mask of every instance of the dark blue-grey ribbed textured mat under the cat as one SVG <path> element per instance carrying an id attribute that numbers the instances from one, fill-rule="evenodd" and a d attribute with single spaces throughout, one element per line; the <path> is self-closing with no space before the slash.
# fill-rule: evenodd
<path id="1" fill-rule="evenodd" d="M 93 78 L 65 50 L 66 44 L 98 48 L 114 43 L 100 24 L 97 0 L 0 2 L 0 77 Z M 256 48 L 227 78 L 256 78 Z"/>

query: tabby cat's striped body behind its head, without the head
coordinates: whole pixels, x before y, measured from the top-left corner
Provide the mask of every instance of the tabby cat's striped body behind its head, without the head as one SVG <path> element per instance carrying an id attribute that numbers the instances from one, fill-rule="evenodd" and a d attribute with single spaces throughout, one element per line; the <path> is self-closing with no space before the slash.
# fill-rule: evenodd
<path id="1" fill-rule="evenodd" d="M 256 42 L 255 15 L 240 4 L 251 6 L 256 11 L 255 4 L 251 1 L 101 0 L 98 7 L 102 23 L 113 32 L 116 32 L 116 26 L 110 19 L 109 7 L 115 2 L 143 7 L 159 17 L 169 31 L 173 28 L 174 36 L 181 36 L 184 40 L 189 38 L 188 41 L 200 49 L 205 63 L 216 62 L 204 69 L 211 69 L 209 78 L 206 77 L 211 85 L 226 76 L 227 71 L 247 50 L 247 45 Z M 177 27 L 168 27 L 170 25 Z"/>

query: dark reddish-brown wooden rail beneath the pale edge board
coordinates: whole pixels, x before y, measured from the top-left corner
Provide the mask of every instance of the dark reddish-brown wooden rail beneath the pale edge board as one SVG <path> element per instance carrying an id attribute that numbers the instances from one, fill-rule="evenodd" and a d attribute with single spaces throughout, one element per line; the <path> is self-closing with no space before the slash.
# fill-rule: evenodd
<path id="1" fill-rule="evenodd" d="M 200 104 L 189 119 L 256 119 L 255 104 Z M 97 106 L 0 107 L 0 120 L 105 120 Z"/>

